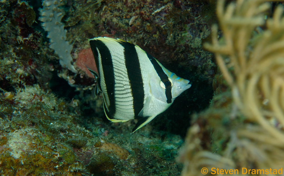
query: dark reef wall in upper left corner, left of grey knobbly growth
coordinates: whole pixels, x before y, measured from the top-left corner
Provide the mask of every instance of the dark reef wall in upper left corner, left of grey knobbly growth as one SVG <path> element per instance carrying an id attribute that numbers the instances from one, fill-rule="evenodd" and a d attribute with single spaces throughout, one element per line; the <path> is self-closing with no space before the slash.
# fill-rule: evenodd
<path id="1" fill-rule="evenodd" d="M 42 34 L 31 25 L 35 13 L 26 2 L 0 2 L 6 16 L 0 27 L 0 88 L 11 92 L 25 85 L 39 84 L 47 89 L 51 79 L 52 54 L 45 47 Z"/>

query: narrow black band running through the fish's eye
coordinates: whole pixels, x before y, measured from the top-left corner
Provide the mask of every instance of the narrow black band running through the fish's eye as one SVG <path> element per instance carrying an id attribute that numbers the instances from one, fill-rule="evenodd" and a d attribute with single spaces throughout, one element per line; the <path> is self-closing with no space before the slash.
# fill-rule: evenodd
<path id="1" fill-rule="evenodd" d="M 166 82 L 170 82 L 168 76 L 163 71 L 162 67 L 158 64 L 157 60 L 155 60 L 154 57 L 152 57 L 150 54 L 147 53 L 148 58 L 150 59 L 151 63 L 153 64 L 158 76 L 160 77 L 161 81 L 165 84 L 165 87 L 167 88 L 168 85 L 166 85 Z M 166 90 L 166 97 L 167 97 L 167 103 L 172 103 L 172 87 L 168 87 Z"/>

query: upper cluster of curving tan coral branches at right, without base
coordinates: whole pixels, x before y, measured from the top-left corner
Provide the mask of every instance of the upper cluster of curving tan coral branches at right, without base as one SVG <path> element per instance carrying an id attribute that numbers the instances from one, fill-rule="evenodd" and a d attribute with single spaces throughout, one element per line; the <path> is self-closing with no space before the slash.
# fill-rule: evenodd
<path id="1" fill-rule="evenodd" d="M 215 53 L 239 109 L 284 144 L 283 131 L 279 130 L 284 126 L 283 6 L 278 6 L 273 18 L 267 20 L 267 29 L 254 36 L 255 28 L 265 23 L 262 12 L 270 8 L 269 3 L 237 1 L 226 11 L 223 6 L 224 1 L 218 1 L 217 15 L 225 43 L 218 42 L 217 26 L 213 26 L 212 44 L 204 47 Z"/>

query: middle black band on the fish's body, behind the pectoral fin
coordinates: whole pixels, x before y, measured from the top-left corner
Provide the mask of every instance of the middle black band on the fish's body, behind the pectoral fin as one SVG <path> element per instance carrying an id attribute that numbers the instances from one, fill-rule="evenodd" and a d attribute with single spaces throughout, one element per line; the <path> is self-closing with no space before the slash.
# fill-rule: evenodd
<path id="1" fill-rule="evenodd" d="M 125 66 L 133 96 L 134 118 L 144 106 L 144 87 L 139 58 L 135 45 L 129 42 L 120 43 L 124 47 Z"/>

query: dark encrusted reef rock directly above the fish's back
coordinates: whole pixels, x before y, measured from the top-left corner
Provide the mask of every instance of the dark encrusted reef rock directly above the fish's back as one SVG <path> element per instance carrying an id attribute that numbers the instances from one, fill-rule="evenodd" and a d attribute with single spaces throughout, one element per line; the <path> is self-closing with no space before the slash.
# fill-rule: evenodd
<path id="1" fill-rule="evenodd" d="M 74 1 L 65 26 L 68 39 L 83 48 L 88 45 L 85 38 L 129 40 L 163 65 L 185 67 L 212 81 L 215 64 L 201 45 L 210 34 L 200 16 L 202 7 L 187 1 Z"/>

